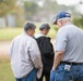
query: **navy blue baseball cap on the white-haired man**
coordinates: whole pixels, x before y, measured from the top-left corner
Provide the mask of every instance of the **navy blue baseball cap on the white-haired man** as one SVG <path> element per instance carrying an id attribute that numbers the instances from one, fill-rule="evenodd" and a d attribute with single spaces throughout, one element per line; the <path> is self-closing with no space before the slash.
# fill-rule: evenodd
<path id="1" fill-rule="evenodd" d="M 60 18 L 66 18 L 66 17 L 71 17 L 71 14 L 70 13 L 67 13 L 67 12 L 60 12 L 58 13 L 54 19 L 52 19 L 52 24 L 57 24 L 57 21 L 60 19 Z"/>

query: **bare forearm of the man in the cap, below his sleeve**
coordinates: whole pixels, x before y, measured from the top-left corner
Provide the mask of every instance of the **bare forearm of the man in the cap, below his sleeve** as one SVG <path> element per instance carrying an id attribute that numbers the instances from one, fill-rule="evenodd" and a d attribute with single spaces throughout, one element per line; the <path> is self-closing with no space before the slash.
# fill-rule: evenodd
<path id="1" fill-rule="evenodd" d="M 55 70 L 61 62 L 64 52 L 56 52 L 52 69 Z"/>

